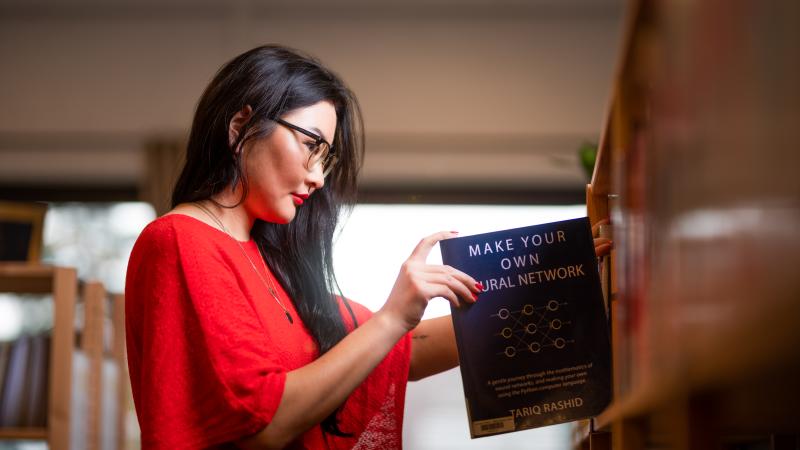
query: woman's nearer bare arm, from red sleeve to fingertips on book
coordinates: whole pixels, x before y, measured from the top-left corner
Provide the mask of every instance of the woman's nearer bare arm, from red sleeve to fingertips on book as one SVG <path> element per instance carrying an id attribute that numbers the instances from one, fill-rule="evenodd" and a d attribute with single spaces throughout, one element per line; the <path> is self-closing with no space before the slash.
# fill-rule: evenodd
<path id="1" fill-rule="evenodd" d="M 474 301 L 475 280 L 448 266 L 428 265 L 431 248 L 453 237 L 450 232 L 423 239 L 400 270 L 386 304 L 320 358 L 286 375 L 283 396 L 272 422 L 256 435 L 238 442 L 243 448 L 283 448 L 322 422 L 414 329 L 428 301 L 444 297 L 454 305 L 459 297 Z"/>

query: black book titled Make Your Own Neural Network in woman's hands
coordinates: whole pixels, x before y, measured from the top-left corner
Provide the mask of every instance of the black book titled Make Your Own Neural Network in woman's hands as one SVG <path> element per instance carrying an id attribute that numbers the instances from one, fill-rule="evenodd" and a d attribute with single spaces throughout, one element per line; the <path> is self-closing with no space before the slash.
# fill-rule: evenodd
<path id="1" fill-rule="evenodd" d="M 611 361 L 587 218 L 447 239 L 442 261 L 480 281 L 451 307 L 472 438 L 599 414 Z"/>

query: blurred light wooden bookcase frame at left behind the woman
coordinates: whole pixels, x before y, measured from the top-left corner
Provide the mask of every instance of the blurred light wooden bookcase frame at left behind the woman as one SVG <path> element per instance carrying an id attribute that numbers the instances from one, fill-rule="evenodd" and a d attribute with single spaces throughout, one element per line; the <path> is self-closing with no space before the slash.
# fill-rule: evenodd
<path id="1" fill-rule="evenodd" d="M 0 441 L 45 440 L 53 450 L 125 448 L 123 296 L 109 296 L 97 281 L 79 282 L 73 268 L 27 263 L 0 263 L 0 292 L 51 294 L 54 306 L 47 424 L 0 427 Z"/>

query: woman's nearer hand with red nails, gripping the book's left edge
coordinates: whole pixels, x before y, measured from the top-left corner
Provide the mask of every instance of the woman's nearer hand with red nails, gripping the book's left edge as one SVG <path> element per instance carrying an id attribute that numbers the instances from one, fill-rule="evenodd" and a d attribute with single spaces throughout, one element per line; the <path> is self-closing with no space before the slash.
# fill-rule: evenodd
<path id="1" fill-rule="evenodd" d="M 401 266 L 389 299 L 377 314 L 390 317 L 408 331 L 419 324 L 434 297 L 444 297 L 456 307 L 461 301 L 474 303 L 482 291 L 474 278 L 450 266 L 425 262 L 437 242 L 457 235 L 442 231 L 422 239 Z"/>

